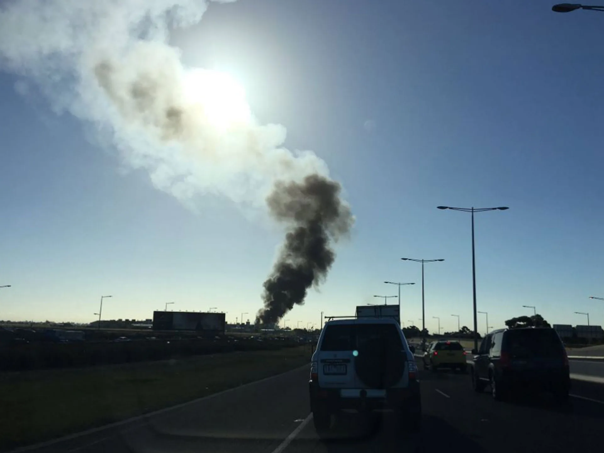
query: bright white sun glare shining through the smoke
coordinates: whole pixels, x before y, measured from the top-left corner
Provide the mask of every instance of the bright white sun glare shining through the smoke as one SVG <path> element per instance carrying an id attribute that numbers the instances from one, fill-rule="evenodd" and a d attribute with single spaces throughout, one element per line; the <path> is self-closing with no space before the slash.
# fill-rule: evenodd
<path id="1" fill-rule="evenodd" d="M 205 120 L 218 130 L 249 124 L 251 112 L 245 90 L 225 72 L 194 69 L 185 77 L 188 101 L 197 104 Z"/>

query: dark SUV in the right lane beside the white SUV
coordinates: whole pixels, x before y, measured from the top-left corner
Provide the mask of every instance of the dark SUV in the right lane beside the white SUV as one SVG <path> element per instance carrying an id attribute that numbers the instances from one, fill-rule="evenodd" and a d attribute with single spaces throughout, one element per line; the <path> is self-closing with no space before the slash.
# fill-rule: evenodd
<path id="1" fill-rule="evenodd" d="M 513 390 L 548 390 L 561 402 L 568 399 L 568 356 L 554 329 L 493 331 L 472 354 L 469 366 L 476 391 L 490 385 L 493 398 L 502 400 Z"/>

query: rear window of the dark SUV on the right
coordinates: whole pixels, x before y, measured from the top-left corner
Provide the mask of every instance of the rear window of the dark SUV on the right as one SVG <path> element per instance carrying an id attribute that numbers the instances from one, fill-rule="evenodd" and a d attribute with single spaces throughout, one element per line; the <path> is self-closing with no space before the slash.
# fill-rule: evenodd
<path id="1" fill-rule="evenodd" d="M 518 329 L 506 332 L 505 350 L 516 357 L 561 356 L 564 348 L 553 329 Z"/>

